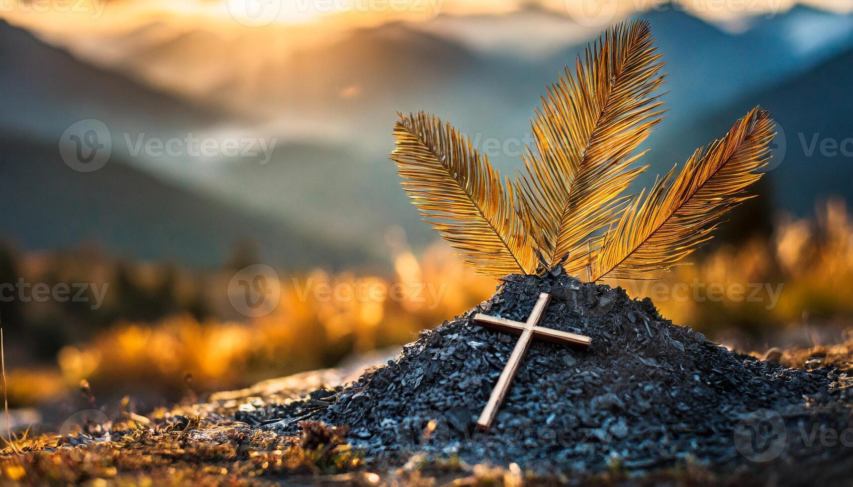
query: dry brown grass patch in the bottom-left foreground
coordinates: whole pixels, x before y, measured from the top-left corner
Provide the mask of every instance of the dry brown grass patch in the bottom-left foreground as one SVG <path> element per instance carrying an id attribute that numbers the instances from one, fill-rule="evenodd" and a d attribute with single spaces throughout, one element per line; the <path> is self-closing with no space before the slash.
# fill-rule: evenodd
<path id="1" fill-rule="evenodd" d="M 173 416 L 149 428 L 133 421 L 107 426 L 109 440 L 84 433 L 44 435 L 3 450 L 3 480 L 23 484 L 265 484 L 282 474 L 350 471 L 361 460 L 340 438 L 305 444 L 227 420 Z"/>

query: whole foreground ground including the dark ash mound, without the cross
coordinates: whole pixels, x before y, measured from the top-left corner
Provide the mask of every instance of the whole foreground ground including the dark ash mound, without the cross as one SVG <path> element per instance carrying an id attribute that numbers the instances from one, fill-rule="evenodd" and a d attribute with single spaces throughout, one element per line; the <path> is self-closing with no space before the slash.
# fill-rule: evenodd
<path id="1" fill-rule="evenodd" d="M 474 427 L 516 338 L 476 312 L 592 337 L 534 343 L 489 432 Z M 4 451 L 29 483 L 845 484 L 853 344 L 740 355 L 648 301 L 556 272 L 514 276 L 477 309 L 357 377 L 327 370 L 125 415 Z M 778 363 L 781 362 L 781 363 Z M 343 385 L 339 385 L 343 384 Z"/>

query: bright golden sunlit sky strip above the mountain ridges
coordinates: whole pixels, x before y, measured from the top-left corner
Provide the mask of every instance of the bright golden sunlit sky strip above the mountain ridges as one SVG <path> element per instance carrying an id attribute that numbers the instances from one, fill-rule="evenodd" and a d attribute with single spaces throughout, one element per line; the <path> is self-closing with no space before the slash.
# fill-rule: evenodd
<path id="1" fill-rule="evenodd" d="M 80 23 L 112 29 L 141 20 L 239 27 L 374 25 L 429 20 L 436 15 L 502 14 L 537 5 L 578 24 L 601 26 L 627 14 L 663 8 L 664 0 L 3 0 L 0 16 L 39 31 L 62 32 Z M 853 11 L 850 0 L 675 0 L 674 7 L 705 20 L 784 12 L 796 4 Z"/>

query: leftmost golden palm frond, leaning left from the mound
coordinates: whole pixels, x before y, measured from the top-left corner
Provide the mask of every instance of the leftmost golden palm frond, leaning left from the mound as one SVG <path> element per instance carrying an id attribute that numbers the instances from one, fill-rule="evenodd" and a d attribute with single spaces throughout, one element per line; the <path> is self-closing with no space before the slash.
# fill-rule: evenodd
<path id="1" fill-rule="evenodd" d="M 536 256 L 515 195 L 450 124 L 428 113 L 400 114 L 391 159 L 403 188 L 432 224 L 479 273 L 494 277 L 531 273 Z"/>

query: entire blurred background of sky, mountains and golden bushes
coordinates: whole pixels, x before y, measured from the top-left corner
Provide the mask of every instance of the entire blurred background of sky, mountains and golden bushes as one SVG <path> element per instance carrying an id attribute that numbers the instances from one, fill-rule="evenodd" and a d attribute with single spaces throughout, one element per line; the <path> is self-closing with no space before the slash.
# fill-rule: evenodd
<path id="1" fill-rule="evenodd" d="M 397 111 L 450 121 L 511 175 L 546 86 L 631 17 L 650 21 L 670 73 L 640 186 L 755 105 L 780 135 L 760 196 L 693 265 L 656 289 L 612 284 L 744 351 L 838 339 L 853 322 L 851 12 L 848 0 L 0 0 L 15 418 L 125 395 L 150 409 L 381 357 L 488 298 L 497 282 L 452 257 L 399 187 Z"/>

